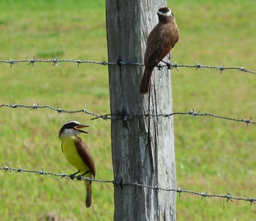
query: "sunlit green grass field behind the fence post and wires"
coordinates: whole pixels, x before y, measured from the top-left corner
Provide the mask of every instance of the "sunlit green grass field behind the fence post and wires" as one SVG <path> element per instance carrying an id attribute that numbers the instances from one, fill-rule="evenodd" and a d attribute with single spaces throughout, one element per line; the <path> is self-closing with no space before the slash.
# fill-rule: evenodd
<path id="1" fill-rule="evenodd" d="M 172 62 L 244 66 L 256 70 L 256 2 L 168 1 L 180 30 Z M 1 1 L 1 60 L 108 61 L 104 1 Z M 0 63 L 0 104 L 51 105 L 109 113 L 108 67 L 75 63 Z M 256 76 L 237 70 L 172 70 L 173 111 L 195 109 L 255 121 Z M 0 164 L 71 174 L 58 132 L 74 119 L 90 125 L 88 144 L 97 178 L 113 179 L 110 121 L 50 109 L 0 109 Z M 256 198 L 255 125 L 211 117 L 175 116 L 177 185 L 186 190 Z M 1 220 L 112 220 L 113 187 L 93 183 L 92 207 L 83 183 L 55 176 L 0 171 Z M 250 220 L 250 202 L 190 194 L 177 197 L 177 220 Z"/>

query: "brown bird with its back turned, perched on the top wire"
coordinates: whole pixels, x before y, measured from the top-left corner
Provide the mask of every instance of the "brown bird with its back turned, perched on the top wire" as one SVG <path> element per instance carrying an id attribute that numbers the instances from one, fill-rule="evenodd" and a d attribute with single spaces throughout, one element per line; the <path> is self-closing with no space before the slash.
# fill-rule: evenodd
<path id="1" fill-rule="evenodd" d="M 148 35 L 144 56 L 145 70 L 140 84 L 140 93 L 143 95 L 149 92 L 154 67 L 179 40 L 179 29 L 170 8 L 160 8 L 157 15 L 159 22 Z"/>

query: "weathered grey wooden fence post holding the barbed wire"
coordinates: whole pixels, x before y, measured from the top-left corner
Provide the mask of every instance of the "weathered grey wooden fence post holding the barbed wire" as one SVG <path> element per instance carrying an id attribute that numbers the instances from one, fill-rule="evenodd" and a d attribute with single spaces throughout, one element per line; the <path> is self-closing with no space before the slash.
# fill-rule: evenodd
<path id="1" fill-rule="evenodd" d="M 164 6 L 165 0 L 106 1 L 109 62 L 143 63 L 147 36 L 157 24 L 156 11 Z M 150 94 L 141 95 L 143 70 L 138 65 L 109 65 L 111 113 L 172 113 L 170 71 L 155 68 Z M 111 139 L 117 181 L 176 188 L 172 117 L 112 119 Z M 116 185 L 114 195 L 114 220 L 176 218 L 175 192 Z"/>

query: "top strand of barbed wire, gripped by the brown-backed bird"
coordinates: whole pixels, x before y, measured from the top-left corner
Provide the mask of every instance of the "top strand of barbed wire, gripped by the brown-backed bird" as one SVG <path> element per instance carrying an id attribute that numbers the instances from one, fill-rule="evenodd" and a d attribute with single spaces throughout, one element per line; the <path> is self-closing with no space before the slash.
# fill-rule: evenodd
<path id="1" fill-rule="evenodd" d="M 83 63 L 91 63 L 91 64 L 95 64 L 95 65 L 139 65 L 139 66 L 144 66 L 141 63 L 138 62 L 124 62 L 124 61 L 116 61 L 116 62 L 106 62 L 106 61 L 84 61 L 84 60 L 76 60 L 76 59 L 58 59 L 58 57 L 54 57 L 54 59 L 50 59 L 50 60 L 43 60 L 43 59 L 35 59 L 35 56 L 33 57 L 33 59 L 19 59 L 19 60 L 13 60 L 13 59 L 9 59 L 9 60 L 0 60 L 0 63 L 9 63 L 11 65 L 11 67 L 13 65 L 16 65 L 18 63 L 24 63 L 24 62 L 28 62 L 28 65 L 33 65 L 33 67 L 35 67 L 35 63 L 36 62 L 40 62 L 40 63 L 53 63 L 52 66 L 54 65 L 60 65 L 61 62 L 71 62 L 71 63 L 77 63 L 77 65 L 79 66 L 80 64 Z M 220 73 L 222 74 L 224 70 L 239 70 L 240 72 L 249 72 L 249 73 L 256 73 L 253 70 L 248 70 L 247 68 L 242 67 L 225 67 L 224 65 L 222 66 L 209 66 L 209 65 L 200 65 L 198 63 L 195 62 L 195 65 L 178 65 L 176 62 L 172 63 L 166 63 L 164 62 L 164 65 L 157 65 L 157 68 L 159 70 L 161 70 L 162 68 L 167 68 L 172 70 L 173 68 L 175 68 L 176 70 L 178 70 L 178 68 L 196 68 L 196 70 L 200 69 L 200 70 L 204 70 L 204 68 L 211 68 L 211 69 L 216 69 L 216 70 L 220 70 Z M 179 70 L 178 70 L 179 71 Z"/>

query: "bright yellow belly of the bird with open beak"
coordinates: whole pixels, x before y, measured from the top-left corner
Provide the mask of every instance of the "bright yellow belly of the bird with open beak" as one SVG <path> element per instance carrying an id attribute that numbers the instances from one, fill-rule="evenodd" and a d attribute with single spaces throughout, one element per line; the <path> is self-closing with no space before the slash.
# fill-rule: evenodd
<path id="1" fill-rule="evenodd" d="M 79 153 L 76 149 L 76 137 L 62 137 L 62 151 L 67 158 L 68 162 L 76 167 L 78 171 L 83 174 L 84 172 L 88 171 L 88 167 L 84 164 L 83 160 L 79 156 Z"/>

